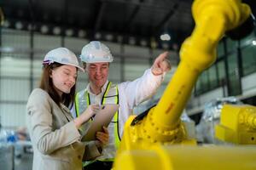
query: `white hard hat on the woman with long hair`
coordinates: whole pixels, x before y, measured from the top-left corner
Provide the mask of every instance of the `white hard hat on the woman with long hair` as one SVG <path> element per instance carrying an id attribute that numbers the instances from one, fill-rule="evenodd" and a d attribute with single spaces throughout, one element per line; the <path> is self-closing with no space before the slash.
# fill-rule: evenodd
<path id="1" fill-rule="evenodd" d="M 50 65 L 54 62 L 63 65 L 73 65 L 79 68 L 80 71 L 84 71 L 84 69 L 79 66 L 77 56 L 67 48 L 55 48 L 45 55 L 43 65 Z"/>

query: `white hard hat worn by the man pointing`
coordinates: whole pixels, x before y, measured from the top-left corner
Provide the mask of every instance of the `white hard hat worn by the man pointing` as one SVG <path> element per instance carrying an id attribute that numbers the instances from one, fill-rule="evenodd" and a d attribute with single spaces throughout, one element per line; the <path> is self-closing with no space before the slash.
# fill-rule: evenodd
<path id="1" fill-rule="evenodd" d="M 110 63 L 113 61 L 113 55 L 105 44 L 93 41 L 82 48 L 80 59 L 85 63 Z"/>

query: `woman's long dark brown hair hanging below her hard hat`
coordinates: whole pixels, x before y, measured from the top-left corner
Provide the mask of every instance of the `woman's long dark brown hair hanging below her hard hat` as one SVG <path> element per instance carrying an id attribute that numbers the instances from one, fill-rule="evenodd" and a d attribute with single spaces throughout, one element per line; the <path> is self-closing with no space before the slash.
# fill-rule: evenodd
<path id="1" fill-rule="evenodd" d="M 49 77 L 49 75 L 51 74 L 51 71 L 59 66 L 61 66 L 61 64 L 59 63 L 53 63 L 51 65 L 43 66 L 43 74 L 41 77 L 39 88 L 42 88 L 44 91 L 46 91 L 51 97 L 51 99 L 53 99 L 57 105 L 60 106 L 60 104 L 63 103 L 68 107 L 70 104 L 73 103 L 73 100 L 74 100 L 75 89 L 76 89 L 75 85 L 73 86 L 73 88 L 71 88 L 69 94 L 63 93 L 62 96 L 60 96 L 54 88 L 52 78 Z"/>

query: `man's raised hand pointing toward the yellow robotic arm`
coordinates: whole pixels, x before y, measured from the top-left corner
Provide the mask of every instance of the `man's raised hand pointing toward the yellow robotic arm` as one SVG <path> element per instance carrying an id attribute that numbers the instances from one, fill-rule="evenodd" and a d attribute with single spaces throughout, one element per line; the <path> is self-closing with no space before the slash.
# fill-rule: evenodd
<path id="1" fill-rule="evenodd" d="M 160 54 L 155 60 L 151 67 L 151 71 L 154 76 L 162 75 L 164 72 L 171 70 L 171 62 L 166 59 L 168 52 Z"/>

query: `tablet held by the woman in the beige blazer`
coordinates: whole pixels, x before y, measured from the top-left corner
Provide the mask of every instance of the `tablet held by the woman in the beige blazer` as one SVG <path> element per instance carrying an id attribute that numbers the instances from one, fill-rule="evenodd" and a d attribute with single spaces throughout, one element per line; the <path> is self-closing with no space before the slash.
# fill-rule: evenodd
<path id="1" fill-rule="evenodd" d="M 107 104 L 102 105 L 102 109 L 94 116 L 93 121 L 90 123 L 90 127 L 85 133 L 82 140 L 96 140 L 96 132 L 102 131 L 102 127 L 108 127 L 108 124 L 112 121 L 114 113 L 118 111 L 119 105 Z"/>

